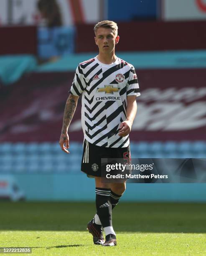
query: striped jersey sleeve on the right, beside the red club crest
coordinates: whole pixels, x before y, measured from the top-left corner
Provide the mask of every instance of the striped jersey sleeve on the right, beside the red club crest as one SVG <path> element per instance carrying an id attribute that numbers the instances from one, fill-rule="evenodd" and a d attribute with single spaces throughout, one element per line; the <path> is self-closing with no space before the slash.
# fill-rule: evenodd
<path id="1" fill-rule="evenodd" d="M 127 82 L 127 96 L 140 96 L 140 88 L 137 81 L 135 68 L 131 65 L 129 80 Z"/>

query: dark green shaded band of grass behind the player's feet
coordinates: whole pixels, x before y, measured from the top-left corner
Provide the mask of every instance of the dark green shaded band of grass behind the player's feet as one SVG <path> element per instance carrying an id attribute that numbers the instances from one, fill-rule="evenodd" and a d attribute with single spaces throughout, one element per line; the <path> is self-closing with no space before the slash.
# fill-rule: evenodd
<path id="1" fill-rule="evenodd" d="M 96 212 L 91 202 L 1 202 L 0 209 L 2 231 L 86 232 Z M 113 226 L 127 233 L 206 233 L 205 212 L 203 203 L 122 202 L 112 212 Z"/>

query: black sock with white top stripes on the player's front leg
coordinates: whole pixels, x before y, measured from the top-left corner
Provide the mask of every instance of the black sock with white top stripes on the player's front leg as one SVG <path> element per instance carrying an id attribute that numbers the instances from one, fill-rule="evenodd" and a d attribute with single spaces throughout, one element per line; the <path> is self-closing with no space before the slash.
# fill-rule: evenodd
<path id="1" fill-rule="evenodd" d="M 110 201 L 110 189 L 96 187 L 97 215 L 103 228 L 112 226 L 112 205 Z"/>

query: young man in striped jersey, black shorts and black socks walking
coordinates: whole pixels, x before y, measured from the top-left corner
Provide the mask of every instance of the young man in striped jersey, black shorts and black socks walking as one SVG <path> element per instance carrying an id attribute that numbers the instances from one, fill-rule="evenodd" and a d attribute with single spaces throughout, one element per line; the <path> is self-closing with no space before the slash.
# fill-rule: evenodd
<path id="1" fill-rule="evenodd" d="M 61 149 L 68 154 L 67 131 L 78 98 L 82 95 L 84 151 L 81 171 L 95 178 L 97 207 L 97 213 L 87 228 L 93 235 L 94 244 L 102 246 L 117 245 L 112 227 L 112 209 L 120 200 L 126 184 L 102 182 L 101 158 L 130 159 L 129 133 L 137 112 L 136 96 L 140 95 L 134 67 L 114 53 L 115 45 L 120 40 L 117 29 L 117 24 L 109 20 L 94 26 L 99 54 L 80 63 L 76 69 L 59 141 Z"/>

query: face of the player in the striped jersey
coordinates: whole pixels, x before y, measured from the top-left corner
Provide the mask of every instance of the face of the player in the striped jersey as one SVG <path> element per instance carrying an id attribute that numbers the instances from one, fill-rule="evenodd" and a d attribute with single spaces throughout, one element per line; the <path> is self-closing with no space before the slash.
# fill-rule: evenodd
<path id="1" fill-rule="evenodd" d="M 97 28 L 95 43 L 99 47 L 99 52 L 111 53 L 115 44 L 118 44 L 120 37 L 112 33 L 111 28 Z"/>

